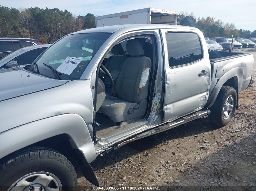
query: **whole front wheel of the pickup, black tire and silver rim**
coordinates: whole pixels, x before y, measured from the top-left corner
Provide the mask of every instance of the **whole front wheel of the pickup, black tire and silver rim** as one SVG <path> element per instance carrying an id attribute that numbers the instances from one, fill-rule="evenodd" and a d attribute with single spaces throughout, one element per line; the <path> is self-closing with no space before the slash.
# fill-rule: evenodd
<path id="1" fill-rule="evenodd" d="M 71 162 L 48 148 L 26 149 L 0 162 L 1 191 L 65 191 L 75 190 L 76 185 Z"/>

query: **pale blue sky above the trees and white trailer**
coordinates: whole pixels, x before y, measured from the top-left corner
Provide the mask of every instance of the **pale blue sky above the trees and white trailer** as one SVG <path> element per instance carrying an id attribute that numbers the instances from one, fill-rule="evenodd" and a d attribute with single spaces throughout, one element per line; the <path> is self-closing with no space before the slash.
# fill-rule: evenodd
<path id="1" fill-rule="evenodd" d="M 0 5 L 13 8 L 59 8 L 75 15 L 92 13 L 97 16 L 141 8 L 160 8 L 191 13 L 196 18 L 207 16 L 234 23 L 237 29 L 256 30 L 255 0 L 0 0 Z"/>

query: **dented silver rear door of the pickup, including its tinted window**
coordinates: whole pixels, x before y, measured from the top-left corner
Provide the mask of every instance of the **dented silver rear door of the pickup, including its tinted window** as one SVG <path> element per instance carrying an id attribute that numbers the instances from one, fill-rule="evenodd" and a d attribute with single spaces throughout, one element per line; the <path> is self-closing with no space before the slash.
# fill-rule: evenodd
<path id="1" fill-rule="evenodd" d="M 164 121 L 171 121 L 204 107 L 211 84 L 211 64 L 199 30 L 164 29 L 161 34 L 166 78 Z"/>

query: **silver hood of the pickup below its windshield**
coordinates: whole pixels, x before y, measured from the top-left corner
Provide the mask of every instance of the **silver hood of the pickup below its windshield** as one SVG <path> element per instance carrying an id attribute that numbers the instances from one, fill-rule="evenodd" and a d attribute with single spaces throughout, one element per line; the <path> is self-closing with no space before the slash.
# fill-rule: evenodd
<path id="1" fill-rule="evenodd" d="M 66 82 L 36 75 L 23 67 L 5 69 L 0 71 L 0 101 L 54 88 Z"/>

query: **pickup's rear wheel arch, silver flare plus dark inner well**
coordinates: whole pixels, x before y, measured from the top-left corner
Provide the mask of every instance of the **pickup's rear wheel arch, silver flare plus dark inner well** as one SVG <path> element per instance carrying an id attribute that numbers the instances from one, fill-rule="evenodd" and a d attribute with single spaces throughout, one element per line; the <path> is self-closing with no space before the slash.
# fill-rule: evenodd
<path id="1" fill-rule="evenodd" d="M 232 68 L 231 70 L 226 72 L 224 75 L 222 75 L 221 78 L 219 78 L 218 82 L 216 83 L 213 91 L 211 92 L 211 95 L 205 107 L 210 108 L 213 105 L 214 101 L 216 100 L 219 94 L 221 87 L 224 85 L 233 87 L 236 90 L 237 97 L 238 97 L 238 93 L 241 91 L 241 88 L 242 88 L 243 74 L 244 74 L 244 69 L 242 67 L 237 67 L 237 68 Z M 238 99 L 237 99 L 237 107 L 238 107 Z"/>

